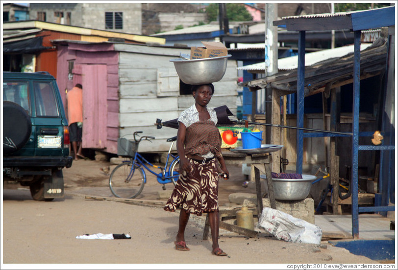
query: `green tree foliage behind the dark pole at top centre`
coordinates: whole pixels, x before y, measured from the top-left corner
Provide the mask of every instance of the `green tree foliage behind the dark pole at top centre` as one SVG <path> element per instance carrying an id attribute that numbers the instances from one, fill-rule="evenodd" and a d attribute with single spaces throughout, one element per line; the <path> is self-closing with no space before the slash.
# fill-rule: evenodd
<path id="1" fill-rule="evenodd" d="M 242 3 L 226 3 L 226 17 L 232 22 L 246 22 L 251 21 L 249 11 L 246 10 Z M 211 3 L 206 7 L 206 14 L 209 22 L 217 21 L 219 18 L 219 4 Z"/>

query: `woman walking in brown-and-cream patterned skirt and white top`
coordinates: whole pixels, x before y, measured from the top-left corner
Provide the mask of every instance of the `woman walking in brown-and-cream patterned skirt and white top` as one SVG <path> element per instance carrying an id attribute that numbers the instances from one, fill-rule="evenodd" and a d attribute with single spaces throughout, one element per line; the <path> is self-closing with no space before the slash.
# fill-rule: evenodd
<path id="1" fill-rule="evenodd" d="M 226 179 L 229 172 L 221 154 L 221 135 L 216 127 L 217 114 L 213 108 L 207 107 L 213 93 L 213 84 L 192 86 L 195 104 L 178 118 L 177 153 L 180 157 L 180 177 L 164 209 L 174 212 L 181 207 L 178 233 L 174 242 L 177 250 L 189 250 L 184 233 L 190 214 L 200 216 L 208 213 L 212 252 L 217 256 L 225 256 L 226 253 L 218 244 L 218 162 Z"/>

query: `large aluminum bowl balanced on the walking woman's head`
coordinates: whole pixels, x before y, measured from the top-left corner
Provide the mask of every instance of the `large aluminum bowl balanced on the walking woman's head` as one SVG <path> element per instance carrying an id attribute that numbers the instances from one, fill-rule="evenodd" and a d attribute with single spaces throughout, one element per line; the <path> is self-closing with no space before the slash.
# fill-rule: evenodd
<path id="1" fill-rule="evenodd" d="M 190 85 L 209 84 L 220 81 L 226 70 L 230 54 L 220 57 L 190 59 L 171 59 L 181 81 Z"/>

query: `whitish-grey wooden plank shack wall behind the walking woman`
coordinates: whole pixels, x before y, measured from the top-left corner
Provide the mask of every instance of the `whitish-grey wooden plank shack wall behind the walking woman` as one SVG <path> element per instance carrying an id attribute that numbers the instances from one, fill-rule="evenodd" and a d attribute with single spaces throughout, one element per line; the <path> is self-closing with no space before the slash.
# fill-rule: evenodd
<path id="1" fill-rule="evenodd" d="M 140 45 L 115 44 L 119 54 L 119 137 L 132 138 L 135 131 L 156 139 L 140 143 L 140 152 L 168 151 L 167 138 L 177 135 L 169 127 L 156 129 L 156 119 L 178 118 L 194 104 L 192 95 L 179 94 L 179 78 L 171 59 L 180 53 L 189 54 L 190 48 L 161 48 Z M 215 93 L 210 107 L 226 105 L 236 114 L 237 64 L 229 60 L 223 79 L 215 82 Z M 164 75 L 166 74 L 166 75 Z M 166 78 L 166 79 L 165 79 Z M 174 146 L 175 150 L 175 146 Z"/>

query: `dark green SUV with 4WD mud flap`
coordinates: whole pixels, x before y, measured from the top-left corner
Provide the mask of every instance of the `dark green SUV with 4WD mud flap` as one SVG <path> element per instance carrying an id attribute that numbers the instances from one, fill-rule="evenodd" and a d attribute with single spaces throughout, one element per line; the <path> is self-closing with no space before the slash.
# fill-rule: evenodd
<path id="1" fill-rule="evenodd" d="M 72 166 L 61 95 L 48 72 L 3 72 L 3 181 L 29 186 L 34 200 L 64 197 Z"/>

